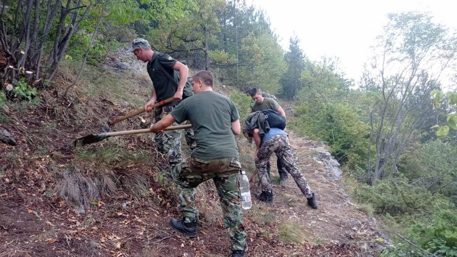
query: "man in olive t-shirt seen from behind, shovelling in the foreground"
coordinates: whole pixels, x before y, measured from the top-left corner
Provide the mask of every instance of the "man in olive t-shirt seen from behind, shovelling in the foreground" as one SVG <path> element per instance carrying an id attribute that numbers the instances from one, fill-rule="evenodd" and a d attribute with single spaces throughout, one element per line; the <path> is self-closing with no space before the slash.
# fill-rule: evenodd
<path id="1" fill-rule="evenodd" d="M 150 127 L 156 132 L 189 120 L 195 132 L 195 149 L 185 162 L 175 167 L 175 194 L 183 218 L 171 219 L 170 225 L 189 237 L 196 236 L 195 187 L 213 179 L 232 243 L 232 257 L 241 257 L 246 249 L 246 231 L 237 181 L 241 171 L 234 136 L 241 132 L 238 111 L 230 98 L 213 91 L 213 77 L 209 72 L 197 72 L 192 77 L 192 86 L 194 96 L 184 99 L 170 114 Z"/>

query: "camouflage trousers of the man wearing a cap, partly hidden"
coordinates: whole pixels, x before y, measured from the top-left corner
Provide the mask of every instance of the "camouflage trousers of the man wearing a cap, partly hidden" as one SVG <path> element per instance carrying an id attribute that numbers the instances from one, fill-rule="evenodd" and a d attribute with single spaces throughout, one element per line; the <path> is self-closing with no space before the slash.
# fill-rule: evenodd
<path id="1" fill-rule="evenodd" d="M 176 106 L 164 106 L 158 107 L 155 110 L 155 122 L 160 121 L 162 118 L 167 116 Z M 188 122 L 187 122 L 188 123 Z M 179 125 L 178 123 L 173 123 L 173 126 Z M 193 136 L 192 129 L 185 130 L 186 142 L 189 145 L 190 149 L 195 148 L 196 143 Z M 156 147 L 161 152 L 165 158 L 168 160 L 171 170 L 182 162 L 181 158 L 181 130 L 170 130 L 170 131 L 161 131 L 155 133 L 154 142 Z"/>

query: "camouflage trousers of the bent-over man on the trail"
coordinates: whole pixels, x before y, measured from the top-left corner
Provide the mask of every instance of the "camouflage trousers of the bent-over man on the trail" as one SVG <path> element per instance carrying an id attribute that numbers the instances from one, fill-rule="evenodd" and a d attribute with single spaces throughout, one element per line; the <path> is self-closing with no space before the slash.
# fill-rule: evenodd
<path id="1" fill-rule="evenodd" d="M 292 178 L 295 180 L 295 183 L 298 188 L 300 188 L 304 196 L 307 198 L 313 197 L 311 188 L 308 185 L 306 178 L 304 178 L 303 174 L 301 174 L 300 169 L 295 163 L 293 150 L 289 144 L 289 138 L 284 134 L 272 136 L 262 142 L 262 145 L 259 148 L 259 152 L 257 154 L 259 161 L 256 161 L 256 168 L 262 185 L 262 191 L 271 192 L 271 186 L 268 182 L 267 162 L 273 153 L 276 153 L 283 169 L 292 175 Z"/>

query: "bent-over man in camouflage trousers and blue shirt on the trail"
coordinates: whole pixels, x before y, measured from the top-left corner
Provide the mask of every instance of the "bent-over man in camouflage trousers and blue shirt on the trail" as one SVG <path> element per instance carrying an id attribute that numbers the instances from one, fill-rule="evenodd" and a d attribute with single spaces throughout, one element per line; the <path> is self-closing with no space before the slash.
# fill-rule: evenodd
<path id="1" fill-rule="evenodd" d="M 256 114 L 257 113 L 253 113 L 251 116 Z M 263 114 L 261 113 L 261 115 Z M 243 131 L 245 129 L 243 129 Z M 247 128 L 247 130 L 249 130 L 249 133 L 252 133 L 254 141 L 256 142 L 257 150 L 254 155 L 254 160 L 256 161 L 256 169 L 262 185 L 262 193 L 257 196 L 259 200 L 267 202 L 273 201 L 273 191 L 271 190 L 271 186 L 267 178 L 267 162 L 270 160 L 271 155 L 276 153 L 278 161 L 282 164 L 283 169 L 292 175 L 292 178 L 295 180 L 295 183 L 297 183 L 298 188 L 300 188 L 301 192 L 308 199 L 308 205 L 317 209 L 318 204 L 316 201 L 316 195 L 311 191 L 306 178 L 304 178 L 303 174 L 301 174 L 300 169 L 295 163 L 293 150 L 290 147 L 287 133 L 276 127 L 270 127 L 268 131 L 265 131 L 266 133 L 264 133 L 263 136 L 260 135 L 259 128 L 254 128 L 253 130 Z M 247 136 L 248 132 L 244 132 L 246 132 L 244 133 L 244 136 Z"/>

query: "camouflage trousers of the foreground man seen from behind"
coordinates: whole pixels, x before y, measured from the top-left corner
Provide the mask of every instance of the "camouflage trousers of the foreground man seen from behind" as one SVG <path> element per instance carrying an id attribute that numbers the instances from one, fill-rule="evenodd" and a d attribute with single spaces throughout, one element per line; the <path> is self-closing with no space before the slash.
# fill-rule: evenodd
<path id="1" fill-rule="evenodd" d="M 189 157 L 187 162 L 182 162 L 175 168 L 175 194 L 178 197 L 178 211 L 182 212 L 184 222 L 194 222 L 198 218 L 195 217 L 195 187 L 213 179 L 232 250 L 246 248 L 247 233 L 243 226 L 238 184 L 240 170 L 238 158 L 201 160 Z"/>

